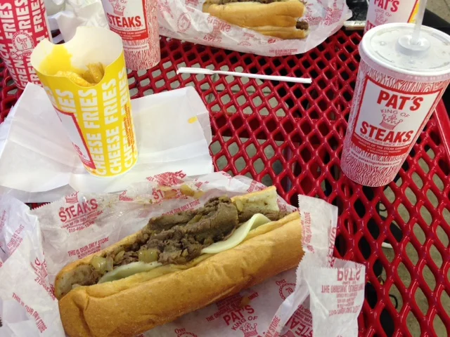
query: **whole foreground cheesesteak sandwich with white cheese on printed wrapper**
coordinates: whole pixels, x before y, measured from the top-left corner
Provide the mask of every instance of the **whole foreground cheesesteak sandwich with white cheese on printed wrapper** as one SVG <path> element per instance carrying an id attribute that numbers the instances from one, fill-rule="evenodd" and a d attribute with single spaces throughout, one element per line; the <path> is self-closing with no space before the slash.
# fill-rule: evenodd
<path id="1" fill-rule="evenodd" d="M 113 246 L 70 263 L 55 294 L 68 336 L 136 336 L 300 263 L 300 213 L 276 188 L 210 199 L 151 218 Z"/>

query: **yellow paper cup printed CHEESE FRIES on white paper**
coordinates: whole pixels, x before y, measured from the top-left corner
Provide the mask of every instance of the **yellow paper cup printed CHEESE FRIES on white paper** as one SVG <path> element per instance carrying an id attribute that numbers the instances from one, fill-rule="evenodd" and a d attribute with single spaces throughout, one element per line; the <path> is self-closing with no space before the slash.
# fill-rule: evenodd
<path id="1" fill-rule="evenodd" d="M 31 63 L 86 170 L 112 177 L 131 169 L 138 152 L 119 35 L 78 27 L 65 44 L 42 40 Z"/>

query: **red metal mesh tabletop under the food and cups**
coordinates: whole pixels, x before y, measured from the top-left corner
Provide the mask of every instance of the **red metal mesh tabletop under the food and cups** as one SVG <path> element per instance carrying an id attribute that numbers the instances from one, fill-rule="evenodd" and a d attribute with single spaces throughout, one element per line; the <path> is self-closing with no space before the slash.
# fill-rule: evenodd
<path id="1" fill-rule="evenodd" d="M 338 206 L 335 256 L 367 270 L 361 336 L 448 336 L 450 122 L 440 103 L 390 185 L 362 187 L 343 176 L 340 154 L 360 40 L 358 33 L 340 31 L 304 55 L 266 58 L 163 38 L 160 65 L 129 74 L 131 95 L 194 86 L 211 112 L 217 170 L 274 184 L 294 205 L 297 194 L 307 194 Z M 314 81 L 178 76 L 177 67 Z M 1 122 L 20 92 L 6 70 L 0 74 Z"/>

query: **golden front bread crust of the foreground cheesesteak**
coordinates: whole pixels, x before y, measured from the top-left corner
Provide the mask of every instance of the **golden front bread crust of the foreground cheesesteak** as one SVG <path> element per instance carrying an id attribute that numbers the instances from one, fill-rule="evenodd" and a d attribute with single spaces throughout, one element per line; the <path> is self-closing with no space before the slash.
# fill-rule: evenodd
<path id="1" fill-rule="evenodd" d="M 300 216 L 288 217 L 295 215 L 186 270 L 70 291 L 59 302 L 65 332 L 71 337 L 136 336 L 295 267 L 304 254 Z M 271 224 L 278 222 L 283 219 Z"/>

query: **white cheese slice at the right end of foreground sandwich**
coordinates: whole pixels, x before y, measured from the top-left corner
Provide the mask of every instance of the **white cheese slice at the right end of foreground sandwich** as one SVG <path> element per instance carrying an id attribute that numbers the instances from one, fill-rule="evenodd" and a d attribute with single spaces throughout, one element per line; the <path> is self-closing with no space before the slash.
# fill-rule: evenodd
<path id="1" fill-rule="evenodd" d="M 250 218 L 250 220 L 246 221 L 240 227 L 231 234 L 231 237 L 224 241 L 216 242 L 211 246 L 207 246 L 202 249 L 202 253 L 220 253 L 221 251 L 226 251 L 227 249 L 231 249 L 236 247 L 240 242 L 243 242 L 245 237 L 247 237 L 250 230 L 259 227 L 260 225 L 264 225 L 265 223 L 270 223 L 271 220 L 263 216 L 262 214 L 255 214 Z"/>

